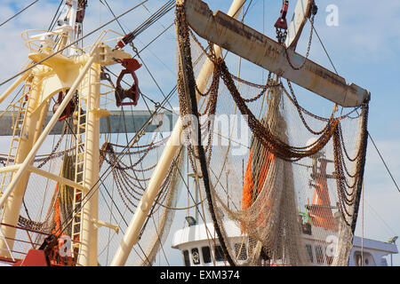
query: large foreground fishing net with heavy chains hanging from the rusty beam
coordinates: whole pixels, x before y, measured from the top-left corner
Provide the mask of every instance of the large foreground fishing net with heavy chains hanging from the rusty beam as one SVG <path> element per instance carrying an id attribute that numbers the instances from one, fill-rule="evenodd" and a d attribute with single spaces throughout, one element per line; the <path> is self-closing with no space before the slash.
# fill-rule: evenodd
<path id="1" fill-rule="evenodd" d="M 218 48 L 188 28 L 183 5 L 176 26 L 185 145 L 227 264 L 347 265 L 368 103 L 312 114 L 277 75 L 263 85 L 231 74 Z M 203 82 L 198 54 L 196 66 L 213 65 Z"/>

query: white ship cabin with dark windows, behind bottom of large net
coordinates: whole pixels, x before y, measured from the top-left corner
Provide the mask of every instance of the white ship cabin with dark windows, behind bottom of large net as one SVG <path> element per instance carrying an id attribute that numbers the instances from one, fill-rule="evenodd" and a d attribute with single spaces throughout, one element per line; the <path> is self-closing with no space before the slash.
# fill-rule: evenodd
<path id="1" fill-rule="evenodd" d="M 235 248 L 236 256 L 239 256 L 239 264 L 243 263 L 248 257 L 247 243 L 243 243 L 244 235 L 233 221 L 228 221 L 225 227 L 228 234 L 228 241 L 231 247 Z M 316 231 L 319 231 L 317 232 L 318 236 L 332 235 L 332 232 L 329 230 L 311 225 L 308 227 L 308 230 L 303 230 L 309 259 L 311 263 L 316 266 L 332 264 L 332 256 L 328 256 L 326 253 L 329 244 L 326 241 L 316 240 L 313 237 L 313 235 L 316 235 Z M 212 239 L 215 241 L 209 241 Z M 207 226 L 204 224 L 189 225 L 180 229 L 173 235 L 172 248 L 180 249 L 185 266 L 213 266 L 212 256 L 215 258 L 215 265 L 228 265 L 228 262 L 224 259 L 212 223 L 207 223 Z M 363 258 L 361 257 L 362 253 Z M 374 241 L 365 238 L 362 241 L 360 237 L 355 236 L 348 265 L 388 266 L 384 256 L 397 253 L 398 250 L 394 243 Z M 362 260 L 364 264 L 361 264 Z"/>

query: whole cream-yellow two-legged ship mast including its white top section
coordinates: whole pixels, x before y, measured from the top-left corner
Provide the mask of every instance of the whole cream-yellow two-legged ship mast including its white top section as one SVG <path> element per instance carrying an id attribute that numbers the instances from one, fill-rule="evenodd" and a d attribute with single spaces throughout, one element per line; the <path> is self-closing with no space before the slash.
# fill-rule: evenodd
<path id="1" fill-rule="evenodd" d="M 27 36 L 26 40 L 31 48 L 29 59 L 43 62 L 22 75 L 0 97 L 4 100 L 18 83 L 26 80 L 25 84 L 30 91 L 28 105 L 20 111 L 24 115 L 23 129 L 19 137 L 13 137 L 13 140 L 18 141 L 15 162 L 14 165 L 2 169 L 3 173 L 11 173 L 12 176 L 9 185 L 4 184 L 4 181 L 2 183 L 2 189 L 5 190 L 0 198 L 0 208 L 4 206 L 2 223 L 5 225 L 1 227 L 4 238 L 0 239 L 0 256 L 10 257 L 9 249 L 12 250 L 13 247 L 15 227 L 29 175 L 30 172 L 35 172 L 60 184 L 74 187 L 74 215 L 71 220 L 72 241 L 76 241 L 73 244 L 76 264 L 98 265 L 97 229 L 100 225 L 108 225 L 97 219 L 100 117 L 109 115 L 107 109 L 100 109 L 100 67 L 116 64 L 116 59 L 131 59 L 132 56 L 101 43 L 102 37 L 89 53 L 73 44 L 82 32 L 85 4 L 86 1 L 80 0 L 66 1 L 67 9 L 57 21 L 59 27 L 55 31 Z M 105 35 L 103 33 L 100 36 Z M 40 45 L 32 44 L 33 42 Z M 64 99 L 44 128 L 50 101 L 60 92 L 65 93 Z M 36 169 L 33 161 L 44 139 L 76 93 L 79 108 L 76 111 L 76 173 L 75 180 L 72 181 Z"/>

